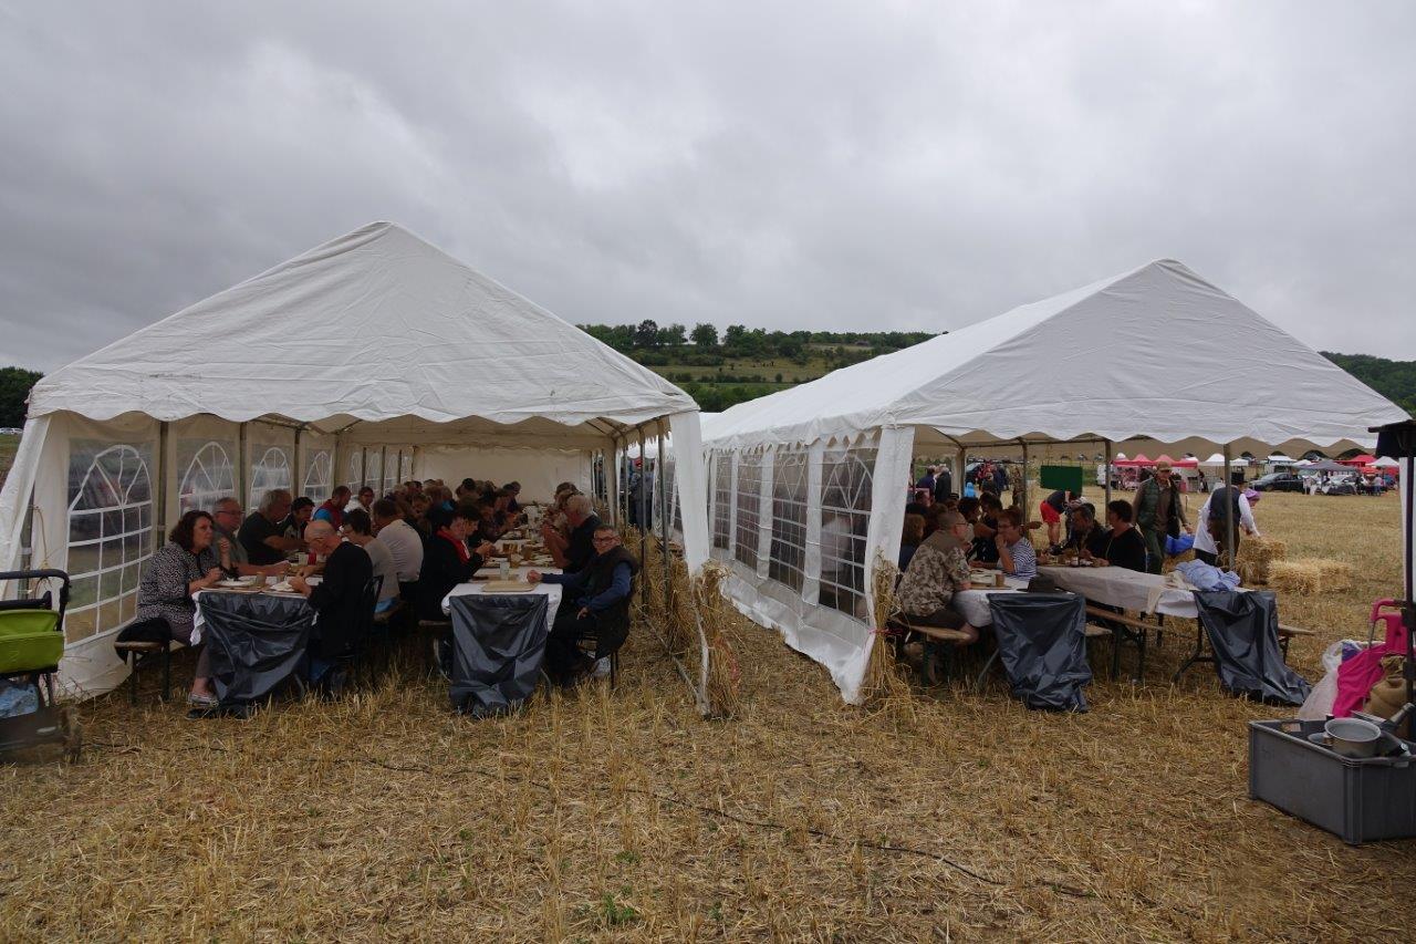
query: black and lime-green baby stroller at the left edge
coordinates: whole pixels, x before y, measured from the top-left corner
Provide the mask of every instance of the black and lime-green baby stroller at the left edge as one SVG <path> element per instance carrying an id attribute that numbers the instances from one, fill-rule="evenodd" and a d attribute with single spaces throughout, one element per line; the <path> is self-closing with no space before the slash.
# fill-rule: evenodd
<path id="1" fill-rule="evenodd" d="M 69 575 L 62 570 L 0 573 L 0 583 L 11 580 L 59 581 L 59 600 L 55 608 L 52 584 L 33 600 L 0 600 L 0 754 L 64 744 L 69 760 L 78 760 L 78 721 L 54 699 L 54 673 L 64 656 Z"/>

